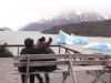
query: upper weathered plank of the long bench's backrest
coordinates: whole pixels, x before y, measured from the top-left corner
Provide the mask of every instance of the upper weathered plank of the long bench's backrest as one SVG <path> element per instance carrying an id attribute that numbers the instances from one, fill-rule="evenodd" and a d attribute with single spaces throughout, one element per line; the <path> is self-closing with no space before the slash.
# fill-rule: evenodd
<path id="1" fill-rule="evenodd" d="M 14 60 L 26 60 L 27 55 L 30 54 L 23 54 L 19 56 L 14 56 Z M 75 59 L 111 59 L 111 55 L 101 55 L 101 54 L 70 54 L 71 58 Z M 36 59 L 64 59 L 68 58 L 68 54 L 31 54 L 31 60 Z"/>

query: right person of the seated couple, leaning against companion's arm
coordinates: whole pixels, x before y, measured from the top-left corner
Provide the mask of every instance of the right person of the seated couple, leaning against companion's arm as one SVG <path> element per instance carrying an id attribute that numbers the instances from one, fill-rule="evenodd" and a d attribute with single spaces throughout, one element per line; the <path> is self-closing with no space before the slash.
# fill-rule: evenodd
<path id="1" fill-rule="evenodd" d="M 49 40 L 52 40 L 51 38 L 49 38 Z M 42 44 L 46 44 L 46 38 L 42 37 L 38 40 L 38 45 L 37 46 L 41 46 Z M 43 54 L 54 54 L 53 50 L 51 48 L 47 48 L 43 52 Z M 40 61 L 56 61 L 56 59 L 42 59 Z M 52 72 L 57 69 L 57 65 L 48 65 L 48 66 L 41 66 L 39 69 L 37 69 L 38 71 L 43 71 L 43 72 Z M 50 76 L 48 73 L 44 73 L 44 79 L 46 79 L 46 83 L 50 83 Z"/>

